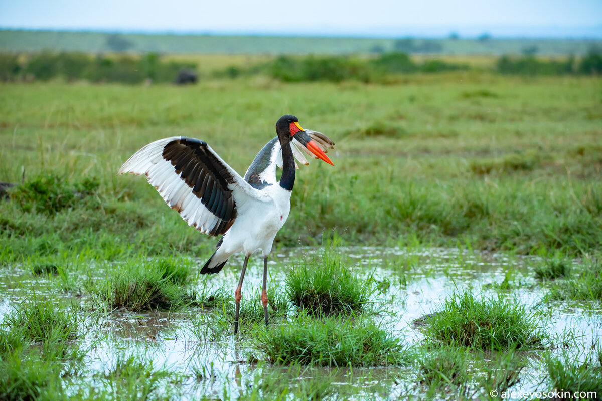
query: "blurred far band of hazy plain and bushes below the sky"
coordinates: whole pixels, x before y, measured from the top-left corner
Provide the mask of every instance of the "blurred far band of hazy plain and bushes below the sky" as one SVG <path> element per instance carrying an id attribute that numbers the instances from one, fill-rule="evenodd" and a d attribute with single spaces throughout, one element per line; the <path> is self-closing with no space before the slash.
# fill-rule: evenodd
<path id="1" fill-rule="evenodd" d="M 199 65 L 206 60 L 199 55 L 211 54 L 240 54 L 243 59 L 209 63 L 211 69 Z M 483 58 L 486 63 L 479 63 Z M 0 79 L 5 82 L 189 82 L 184 74 L 194 76 L 191 81 L 199 75 L 263 75 L 284 82 L 387 84 L 398 82 L 400 74 L 470 69 L 526 76 L 600 75 L 602 41 L 489 35 L 368 39 L 0 31 Z"/>

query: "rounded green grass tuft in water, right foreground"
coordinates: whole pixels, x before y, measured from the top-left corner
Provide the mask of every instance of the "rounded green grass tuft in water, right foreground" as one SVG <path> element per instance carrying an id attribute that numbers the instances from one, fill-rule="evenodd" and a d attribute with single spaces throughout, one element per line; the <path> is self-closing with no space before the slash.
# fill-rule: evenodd
<path id="1" fill-rule="evenodd" d="M 426 323 L 431 340 L 481 350 L 541 349 L 547 338 L 538 314 L 501 296 L 479 299 L 467 290 L 445 299 Z"/>

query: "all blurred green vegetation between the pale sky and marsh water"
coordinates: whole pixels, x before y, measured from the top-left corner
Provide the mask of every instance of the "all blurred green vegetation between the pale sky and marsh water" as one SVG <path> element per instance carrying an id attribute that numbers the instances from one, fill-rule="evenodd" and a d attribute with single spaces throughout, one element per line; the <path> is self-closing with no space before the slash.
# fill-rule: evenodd
<path id="1" fill-rule="evenodd" d="M 23 41 L 7 46 L 8 34 Z M 602 249 L 600 41 L 315 38 L 309 52 L 311 38 L 291 37 L 0 38 L 0 181 L 25 176 L 14 202 L 0 202 L 6 260 L 81 246 L 102 258 L 138 245 L 213 249 L 145 180 L 117 168 L 142 145 L 183 135 L 243 173 L 285 113 L 337 142 L 337 167 L 299 174 L 279 245 L 338 232 L 352 244 Z M 170 51 L 143 46 L 165 38 L 177 39 Z M 191 38 L 231 45 L 198 54 L 176 45 Z M 173 85 L 182 76 L 196 85 Z"/>

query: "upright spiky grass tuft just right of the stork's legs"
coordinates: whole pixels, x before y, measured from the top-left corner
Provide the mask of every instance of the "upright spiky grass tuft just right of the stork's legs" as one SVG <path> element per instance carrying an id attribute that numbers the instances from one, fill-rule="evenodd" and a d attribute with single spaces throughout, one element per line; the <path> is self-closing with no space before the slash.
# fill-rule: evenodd
<path id="1" fill-rule="evenodd" d="M 320 262 L 292 268 L 286 290 L 290 301 L 309 314 L 354 313 L 364 310 L 375 291 L 373 281 L 356 276 L 338 254 L 325 251 Z"/>

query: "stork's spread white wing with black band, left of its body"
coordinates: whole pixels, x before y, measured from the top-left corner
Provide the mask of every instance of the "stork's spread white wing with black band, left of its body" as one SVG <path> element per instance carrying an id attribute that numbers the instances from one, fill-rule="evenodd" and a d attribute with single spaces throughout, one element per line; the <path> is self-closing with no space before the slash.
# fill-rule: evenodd
<path id="1" fill-rule="evenodd" d="M 119 169 L 124 173 L 144 174 L 189 225 L 213 236 L 228 231 L 241 206 L 263 196 L 206 142 L 184 136 L 141 148 Z"/>

